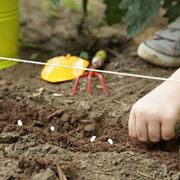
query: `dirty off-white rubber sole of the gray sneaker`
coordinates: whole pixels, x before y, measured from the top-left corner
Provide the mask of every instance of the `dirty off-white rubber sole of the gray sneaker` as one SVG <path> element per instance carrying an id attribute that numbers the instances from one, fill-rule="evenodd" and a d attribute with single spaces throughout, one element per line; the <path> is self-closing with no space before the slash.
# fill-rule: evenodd
<path id="1" fill-rule="evenodd" d="M 145 43 L 141 43 L 138 48 L 138 56 L 152 64 L 161 67 L 180 67 L 180 57 L 167 56 L 149 48 Z"/>

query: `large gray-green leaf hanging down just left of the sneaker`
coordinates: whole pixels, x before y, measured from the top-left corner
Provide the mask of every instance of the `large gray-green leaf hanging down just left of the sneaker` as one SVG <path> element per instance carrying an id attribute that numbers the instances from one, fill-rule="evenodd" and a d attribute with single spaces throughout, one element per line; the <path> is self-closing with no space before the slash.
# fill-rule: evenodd
<path id="1" fill-rule="evenodd" d="M 125 17 L 128 37 L 143 30 L 154 16 L 159 15 L 160 0 L 123 0 L 120 8 L 128 9 Z"/>

